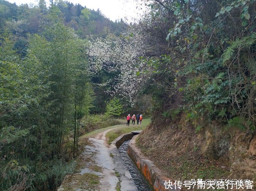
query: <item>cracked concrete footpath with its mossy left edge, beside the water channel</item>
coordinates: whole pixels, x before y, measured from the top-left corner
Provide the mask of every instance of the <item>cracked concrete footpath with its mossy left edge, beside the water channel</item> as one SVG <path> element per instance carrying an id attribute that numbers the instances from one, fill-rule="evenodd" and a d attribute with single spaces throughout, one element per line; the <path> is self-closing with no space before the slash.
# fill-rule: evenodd
<path id="1" fill-rule="evenodd" d="M 90 145 L 84 147 L 84 152 L 79 157 L 77 173 L 67 175 L 58 191 L 137 190 L 115 145 L 108 145 L 106 142 L 105 135 L 112 129 L 89 138 Z"/>

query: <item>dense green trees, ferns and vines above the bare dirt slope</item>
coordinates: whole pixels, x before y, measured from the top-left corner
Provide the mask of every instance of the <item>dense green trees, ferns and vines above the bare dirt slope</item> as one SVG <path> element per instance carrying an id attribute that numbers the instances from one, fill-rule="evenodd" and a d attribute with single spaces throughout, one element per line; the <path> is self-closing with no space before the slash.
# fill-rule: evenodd
<path id="1" fill-rule="evenodd" d="M 160 16 L 158 27 L 171 26 L 168 56 L 157 59 L 163 85 L 157 89 L 169 101 L 164 109 L 185 105 L 193 120 L 208 116 L 255 129 L 255 6 L 249 0 L 151 4 L 148 21 L 154 26 Z"/>

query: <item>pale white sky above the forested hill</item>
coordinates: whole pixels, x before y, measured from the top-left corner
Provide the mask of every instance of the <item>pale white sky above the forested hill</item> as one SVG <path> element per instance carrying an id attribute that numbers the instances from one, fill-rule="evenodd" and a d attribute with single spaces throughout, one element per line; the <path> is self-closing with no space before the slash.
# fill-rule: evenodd
<path id="1" fill-rule="evenodd" d="M 38 4 L 37 0 L 7 0 L 10 3 L 20 4 Z M 103 13 L 107 18 L 112 21 L 120 20 L 121 18 L 127 22 L 132 22 L 133 18 L 138 19 L 140 14 L 143 13 L 141 9 L 141 0 L 68 0 L 73 4 L 81 4 L 89 9 L 94 9 L 95 11 L 99 8 L 101 13 Z M 138 3 L 139 2 L 139 3 Z M 47 4 L 49 0 L 46 0 Z"/>

